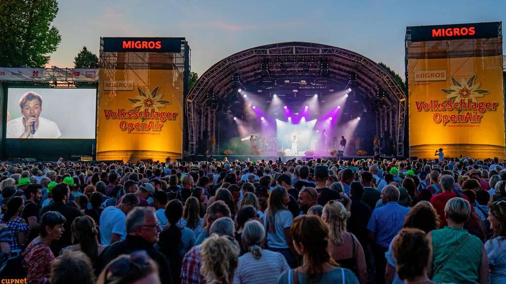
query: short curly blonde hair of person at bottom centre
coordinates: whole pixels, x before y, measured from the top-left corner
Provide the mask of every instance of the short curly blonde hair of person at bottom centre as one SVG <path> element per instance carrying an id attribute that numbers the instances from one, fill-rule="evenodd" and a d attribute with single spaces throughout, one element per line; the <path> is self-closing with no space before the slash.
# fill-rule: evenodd
<path id="1" fill-rule="evenodd" d="M 229 283 L 239 258 L 239 246 L 226 236 L 212 234 L 200 248 L 200 273 L 207 283 Z"/>

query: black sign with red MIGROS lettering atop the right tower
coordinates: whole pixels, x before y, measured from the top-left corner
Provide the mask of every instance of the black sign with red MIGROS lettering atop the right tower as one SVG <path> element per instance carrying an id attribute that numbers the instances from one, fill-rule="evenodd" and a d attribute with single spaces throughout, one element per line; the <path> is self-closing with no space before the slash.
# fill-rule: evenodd
<path id="1" fill-rule="evenodd" d="M 500 36 L 499 22 L 456 25 L 416 26 L 411 29 L 411 41 L 490 38 Z"/>

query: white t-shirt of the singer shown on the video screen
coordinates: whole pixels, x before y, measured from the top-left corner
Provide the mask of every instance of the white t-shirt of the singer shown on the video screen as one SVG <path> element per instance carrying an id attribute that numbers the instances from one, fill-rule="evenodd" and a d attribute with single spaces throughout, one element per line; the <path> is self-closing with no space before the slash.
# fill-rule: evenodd
<path id="1" fill-rule="evenodd" d="M 25 132 L 23 117 L 18 117 L 7 122 L 7 138 L 19 138 Z M 38 129 L 35 134 L 29 134 L 28 138 L 58 138 L 62 135 L 55 122 L 44 118 L 38 118 Z"/>

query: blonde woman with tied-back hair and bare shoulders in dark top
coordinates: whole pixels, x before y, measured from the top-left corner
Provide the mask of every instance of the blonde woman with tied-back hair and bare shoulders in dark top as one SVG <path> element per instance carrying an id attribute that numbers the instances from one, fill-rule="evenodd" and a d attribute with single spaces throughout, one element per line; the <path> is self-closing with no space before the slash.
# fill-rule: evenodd
<path id="1" fill-rule="evenodd" d="M 350 212 L 339 202 L 331 200 L 323 207 L 321 219 L 330 230 L 330 255 L 340 267 L 348 268 L 358 277 L 360 284 L 367 283 L 364 250 L 357 237 L 346 230 Z"/>

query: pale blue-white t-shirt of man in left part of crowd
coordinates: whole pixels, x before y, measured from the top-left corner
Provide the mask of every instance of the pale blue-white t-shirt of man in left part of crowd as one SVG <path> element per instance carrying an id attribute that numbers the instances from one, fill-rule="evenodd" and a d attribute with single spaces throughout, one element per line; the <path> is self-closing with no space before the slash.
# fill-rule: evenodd
<path id="1" fill-rule="evenodd" d="M 112 233 L 121 235 L 121 241 L 126 238 L 126 215 L 114 206 L 109 206 L 100 215 L 100 244 L 111 244 Z"/>

